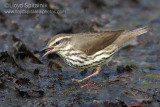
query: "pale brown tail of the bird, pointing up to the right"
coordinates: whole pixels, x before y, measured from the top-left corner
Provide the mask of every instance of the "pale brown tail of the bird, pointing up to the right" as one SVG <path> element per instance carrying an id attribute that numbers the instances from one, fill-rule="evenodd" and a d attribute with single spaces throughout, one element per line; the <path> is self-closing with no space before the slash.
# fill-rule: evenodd
<path id="1" fill-rule="evenodd" d="M 114 41 L 114 44 L 120 48 L 124 43 L 126 43 L 131 38 L 139 36 L 141 34 L 144 34 L 144 33 L 148 32 L 149 30 L 151 30 L 151 28 L 143 27 L 143 28 L 138 28 L 138 29 L 132 30 L 132 31 L 124 31 L 117 38 L 117 40 Z"/>

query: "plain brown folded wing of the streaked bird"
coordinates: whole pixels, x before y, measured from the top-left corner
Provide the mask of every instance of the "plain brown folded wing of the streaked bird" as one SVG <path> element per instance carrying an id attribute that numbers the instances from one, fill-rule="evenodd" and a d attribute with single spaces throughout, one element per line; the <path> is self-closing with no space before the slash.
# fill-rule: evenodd
<path id="1" fill-rule="evenodd" d="M 74 34 L 71 39 L 73 48 L 93 55 L 97 51 L 111 45 L 124 30 L 105 31 L 101 33 Z"/>

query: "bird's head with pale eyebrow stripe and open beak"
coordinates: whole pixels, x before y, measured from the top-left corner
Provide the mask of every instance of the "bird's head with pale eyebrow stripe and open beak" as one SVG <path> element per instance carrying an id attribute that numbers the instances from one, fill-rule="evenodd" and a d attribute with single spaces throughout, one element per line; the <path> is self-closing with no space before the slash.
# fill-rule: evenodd
<path id="1" fill-rule="evenodd" d="M 58 51 L 65 51 L 70 40 L 71 40 L 70 35 L 58 34 L 58 35 L 54 36 L 48 42 L 47 46 L 44 49 L 42 49 L 42 51 L 44 51 L 44 50 L 46 51 L 46 53 L 43 55 L 43 57 L 50 54 L 50 53 L 54 53 L 54 52 L 58 52 Z"/>

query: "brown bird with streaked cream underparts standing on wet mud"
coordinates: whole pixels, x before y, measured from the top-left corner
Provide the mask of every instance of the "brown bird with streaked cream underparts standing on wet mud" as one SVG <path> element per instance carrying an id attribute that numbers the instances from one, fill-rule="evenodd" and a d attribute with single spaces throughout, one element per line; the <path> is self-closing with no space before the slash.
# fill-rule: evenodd
<path id="1" fill-rule="evenodd" d="M 144 34 L 149 27 L 135 30 L 103 31 L 94 33 L 57 34 L 53 36 L 43 55 L 58 54 L 66 64 L 73 68 L 93 69 L 96 71 L 83 79 L 72 81 L 83 82 L 97 75 L 101 67 L 111 61 L 113 55 L 130 39 Z"/>

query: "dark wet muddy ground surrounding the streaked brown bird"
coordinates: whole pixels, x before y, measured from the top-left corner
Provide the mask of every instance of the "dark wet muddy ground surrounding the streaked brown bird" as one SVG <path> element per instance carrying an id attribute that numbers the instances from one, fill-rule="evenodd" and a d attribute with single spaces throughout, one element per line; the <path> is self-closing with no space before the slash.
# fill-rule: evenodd
<path id="1" fill-rule="evenodd" d="M 47 6 L 18 9 L 10 5 L 24 3 Z M 1 0 L 0 106 L 159 107 L 159 9 L 159 0 Z M 54 12 L 11 14 L 8 10 Z M 129 42 L 99 75 L 84 83 L 71 79 L 84 78 L 91 70 L 68 67 L 56 54 L 41 57 L 40 49 L 59 33 L 143 26 L 152 31 Z"/>

